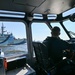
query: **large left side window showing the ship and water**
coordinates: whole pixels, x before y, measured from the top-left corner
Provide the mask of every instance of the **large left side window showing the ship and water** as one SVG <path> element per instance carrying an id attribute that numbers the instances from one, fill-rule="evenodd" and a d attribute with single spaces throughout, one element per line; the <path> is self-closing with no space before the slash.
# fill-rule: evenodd
<path id="1" fill-rule="evenodd" d="M 28 53 L 26 27 L 23 22 L 0 21 L 0 49 L 6 58 Z"/>

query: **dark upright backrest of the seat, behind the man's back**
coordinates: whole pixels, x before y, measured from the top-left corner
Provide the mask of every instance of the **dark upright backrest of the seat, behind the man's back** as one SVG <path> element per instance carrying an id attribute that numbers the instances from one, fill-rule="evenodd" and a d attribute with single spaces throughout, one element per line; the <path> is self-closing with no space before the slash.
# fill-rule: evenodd
<path id="1" fill-rule="evenodd" d="M 48 50 L 43 43 L 33 42 L 34 52 L 37 63 L 44 69 L 50 68 L 50 58 L 48 57 Z"/>

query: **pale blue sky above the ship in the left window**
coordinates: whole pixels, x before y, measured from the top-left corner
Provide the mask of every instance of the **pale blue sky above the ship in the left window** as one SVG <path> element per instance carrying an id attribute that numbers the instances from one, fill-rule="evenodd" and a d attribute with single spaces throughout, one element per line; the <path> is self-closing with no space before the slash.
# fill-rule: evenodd
<path id="1" fill-rule="evenodd" d="M 0 21 L 0 33 L 1 33 L 1 26 L 5 27 L 4 31 L 5 34 L 7 33 L 13 33 L 13 36 L 15 38 L 26 38 L 26 33 L 25 33 L 25 24 L 22 22 L 2 22 Z"/>

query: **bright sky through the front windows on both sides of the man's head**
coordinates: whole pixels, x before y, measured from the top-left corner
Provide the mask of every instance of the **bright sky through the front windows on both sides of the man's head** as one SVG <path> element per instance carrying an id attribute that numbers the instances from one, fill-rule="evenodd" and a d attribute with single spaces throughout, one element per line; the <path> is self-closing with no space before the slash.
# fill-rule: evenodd
<path id="1" fill-rule="evenodd" d="M 75 22 L 71 21 L 65 21 L 63 23 L 68 31 L 75 32 Z M 61 29 L 60 38 L 63 40 L 69 40 L 69 37 L 66 35 L 65 31 L 61 27 L 60 23 L 51 23 L 51 25 L 58 26 Z M 33 23 L 32 25 L 32 35 L 34 41 L 43 41 L 46 37 L 51 36 L 51 30 L 48 28 L 48 26 L 45 23 Z M 75 37 L 75 36 L 74 36 Z"/>

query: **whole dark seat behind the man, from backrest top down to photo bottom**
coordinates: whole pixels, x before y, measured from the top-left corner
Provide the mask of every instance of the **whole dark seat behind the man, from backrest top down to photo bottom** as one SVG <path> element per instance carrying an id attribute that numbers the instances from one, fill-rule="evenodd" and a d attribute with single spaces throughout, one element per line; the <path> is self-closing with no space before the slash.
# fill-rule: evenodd
<path id="1" fill-rule="evenodd" d="M 55 66 L 52 60 L 48 57 L 46 46 L 41 42 L 33 42 L 33 48 L 38 67 L 45 72 L 45 75 L 54 75 Z"/>

